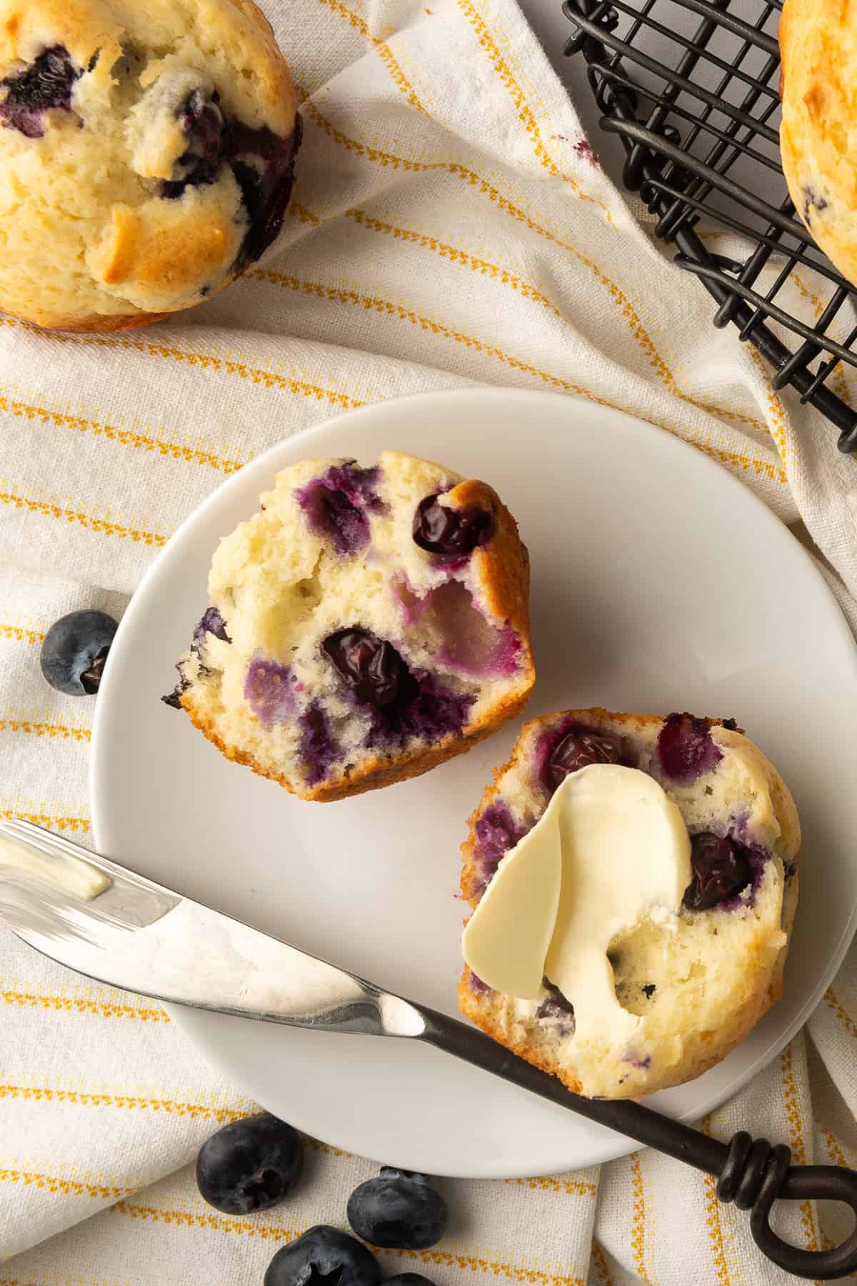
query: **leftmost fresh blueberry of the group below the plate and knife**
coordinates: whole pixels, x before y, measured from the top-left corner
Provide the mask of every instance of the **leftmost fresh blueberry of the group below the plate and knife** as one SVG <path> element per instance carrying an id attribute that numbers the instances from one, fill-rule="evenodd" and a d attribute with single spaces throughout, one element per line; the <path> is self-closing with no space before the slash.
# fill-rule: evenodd
<path id="1" fill-rule="evenodd" d="M 197 1186 L 224 1214 L 252 1214 L 276 1205 L 297 1183 L 303 1143 L 276 1116 L 249 1116 L 212 1134 L 197 1157 Z"/>

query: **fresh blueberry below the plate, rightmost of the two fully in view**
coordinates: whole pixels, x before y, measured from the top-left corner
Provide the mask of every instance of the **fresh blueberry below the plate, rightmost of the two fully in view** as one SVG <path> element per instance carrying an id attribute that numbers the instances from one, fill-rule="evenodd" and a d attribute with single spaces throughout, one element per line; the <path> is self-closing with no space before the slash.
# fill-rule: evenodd
<path id="1" fill-rule="evenodd" d="M 393 1250 L 434 1246 L 446 1228 L 443 1197 L 429 1187 L 425 1174 L 385 1165 L 379 1178 L 367 1179 L 348 1199 L 348 1223 L 358 1237 Z"/>

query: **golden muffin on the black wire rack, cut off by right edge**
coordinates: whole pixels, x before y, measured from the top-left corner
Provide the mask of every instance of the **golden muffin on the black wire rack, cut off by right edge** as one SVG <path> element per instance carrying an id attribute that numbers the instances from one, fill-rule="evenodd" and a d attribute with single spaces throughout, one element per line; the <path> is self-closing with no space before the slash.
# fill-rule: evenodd
<path id="1" fill-rule="evenodd" d="M 798 216 L 857 283 L 854 103 L 857 3 L 786 0 L 782 55 L 782 171 Z"/>

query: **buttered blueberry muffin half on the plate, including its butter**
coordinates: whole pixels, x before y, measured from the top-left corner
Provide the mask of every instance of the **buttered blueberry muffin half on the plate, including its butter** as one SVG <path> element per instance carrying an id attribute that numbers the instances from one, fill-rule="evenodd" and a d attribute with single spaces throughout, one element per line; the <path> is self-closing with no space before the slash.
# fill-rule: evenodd
<path id="1" fill-rule="evenodd" d="M 559 892 L 547 890 L 555 900 L 542 905 L 535 882 L 550 871 L 551 800 L 554 813 L 577 811 L 559 832 Z M 614 806 L 618 829 L 599 829 Z M 604 835 L 618 836 L 610 851 L 587 851 Z M 781 993 L 799 846 L 791 795 L 732 721 L 600 709 L 533 719 L 463 846 L 461 889 L 474 910 L 465 959 L 478 957 L 493 979 L 468 966 L 461 1008 L 587 1097 L 636 1098 L 690 1080 L 743 1040 Z M 624 885 L 635 881 L 636 918 L 622 923 L 617 908 L 633 907 Z M 504 914 L 505 937 L 497 936 Z M 558 941 L 570 923 L 576 940 Z M 508 944 L 524 932 L 538 959 L 518 962 L 532 985 L 510 994 Z"/>

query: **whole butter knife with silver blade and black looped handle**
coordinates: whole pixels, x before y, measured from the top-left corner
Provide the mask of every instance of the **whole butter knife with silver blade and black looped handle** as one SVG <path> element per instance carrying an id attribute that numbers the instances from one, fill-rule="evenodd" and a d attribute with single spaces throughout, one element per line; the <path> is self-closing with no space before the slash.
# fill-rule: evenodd
<path id="1" fill-rule="evenodd" d="M 0 822 L 0 922 L 87 977 L 170 1004 L 322 1031 L 421 1040 L 529 1093 L 714 1175 L 721 1201 L 750 1211 L 768 1259 L 797 1277 L 857 1269 L 857 1223 L 826 1250 L 773 1232 L 777 1199 L 844 1201 L 857 1215 L 857 1172 L 791 1165 L 785 1143 L 739 1130 L 729 1143 L 630 1100 L 582 1098 L 469 1024 L 182 898 L 30 822 Z"/>

